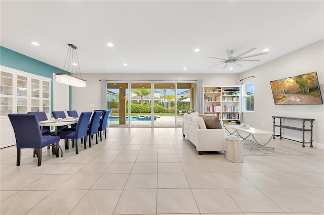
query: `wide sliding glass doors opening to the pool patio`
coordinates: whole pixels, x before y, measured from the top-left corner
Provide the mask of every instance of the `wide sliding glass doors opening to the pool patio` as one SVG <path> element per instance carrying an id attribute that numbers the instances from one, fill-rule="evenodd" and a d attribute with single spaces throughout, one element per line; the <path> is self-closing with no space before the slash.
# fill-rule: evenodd
<path id="1" fill-rule="evenodd" d="M 181 128 L 183 114 L 194 109 L 195 82 L 108 82 L 110 127 Z"/>

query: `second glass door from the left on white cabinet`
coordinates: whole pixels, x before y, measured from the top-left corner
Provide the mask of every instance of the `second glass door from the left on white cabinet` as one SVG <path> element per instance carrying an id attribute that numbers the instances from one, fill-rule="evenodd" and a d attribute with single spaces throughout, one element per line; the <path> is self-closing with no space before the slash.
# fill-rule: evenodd
<path id="1" fill-rule="evenodd" d="M 27 113 L 27 77 L 17 76 L 17 113 Z"/>

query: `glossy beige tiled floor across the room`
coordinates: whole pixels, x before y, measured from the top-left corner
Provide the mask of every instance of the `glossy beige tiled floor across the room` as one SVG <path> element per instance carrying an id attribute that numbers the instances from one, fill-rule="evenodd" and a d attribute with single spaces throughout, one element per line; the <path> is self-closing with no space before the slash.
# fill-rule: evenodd
<path id="1" fill-rule="evenodd" d="M 198 155 L 175 128 L 109 128 L 107 139 L 57 158 L 1 149 L 1 214 L 324 214 L 323 150 L 314 156 Z M 63 141 L 61 141 L 61 145 Z M 63 146 L 64 148 L 64 146 Z"/>

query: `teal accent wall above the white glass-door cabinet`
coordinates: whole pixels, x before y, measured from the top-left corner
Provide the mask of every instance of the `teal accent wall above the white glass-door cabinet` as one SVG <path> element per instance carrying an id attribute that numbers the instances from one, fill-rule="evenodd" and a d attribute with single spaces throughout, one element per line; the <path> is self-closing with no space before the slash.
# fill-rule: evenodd
<path id="1" fill-rule="evenodd" d="M 53 73 L 67 73 L 62 69 L 53 67 L 44 62 L 22 55 L 16 51 L 0 46 L 0 65 L 10 67 L 23 72 L 53 79 Z M 71 86 L 69 87 L 69 108 L 71 110 Z M 51 81 L 51 110 L 53 111 L 53 80 Z"/>

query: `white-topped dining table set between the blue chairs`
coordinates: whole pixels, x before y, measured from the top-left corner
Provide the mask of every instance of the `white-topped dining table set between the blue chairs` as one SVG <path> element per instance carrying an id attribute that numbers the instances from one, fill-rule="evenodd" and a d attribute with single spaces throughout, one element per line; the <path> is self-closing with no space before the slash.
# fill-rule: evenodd
<path id="1" fill-rule="evenodd" d="M 62 119 L 62 120 L 45 120 L 45 121 L 39 121 L 38 124 L 41 126 L 41 133 L 43 133 L 43 127 L 44 126 L 52 126 L 54 127 L 54 135 L 57 136 L 57 132 L 59 131 L 57 128 L 60 126 L 68 126 L 72 124 L 76 124 L 78 121 L 77 118 L 68 118 L 68 119 Z M 56 157 L 59 157 L 59 149 L 61 150 L 61 156 L 63 157 L 63 150 L 59 144 L 56 144 L 55 149 L 52 148 L 53 154 L 56 154 Z"/>

